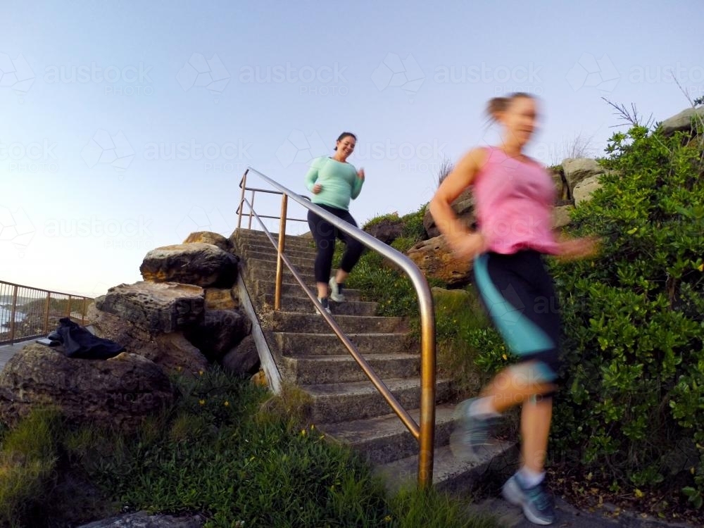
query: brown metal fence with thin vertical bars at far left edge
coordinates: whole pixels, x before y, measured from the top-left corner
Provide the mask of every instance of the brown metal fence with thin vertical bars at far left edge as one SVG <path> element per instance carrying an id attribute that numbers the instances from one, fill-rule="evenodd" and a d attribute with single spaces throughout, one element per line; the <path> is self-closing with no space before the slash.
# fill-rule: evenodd
<path id="1" fill-rule="evenodd" d="M 10 287 L 11 290 L 6 290 L 5 287 Z M 21 294 L 20 289 L 23 290 Z M 85 297 L 82 295 L 65 294 L 61 291 L 34 288 L 32 286 L 25 286 L 23 284 L 15 284 L 13 282 L 6 282 L 0 280 L 0 297 L 4 296 L 12 296 L 12 303 L 10 303 L 9 306 L 10 319 L 6 323 L 6 325 L 9 326 L 9 332 L 2 332 L 0 330 L 0 344 L 14 344 L 15 341 L 24 341 L 26 339 L 32 339 L 34 337 L 39 337 L 48 334 L 49 317 L 51 315 L 53 315 L 54 317 L 58 317 L 60 315 L 69 318 L 73 317 L 74 312 L 71 310 L 71 307 L 74 301 L 78 301 L 82 304 L 80 308 L 80 322 L 81 325 L 84 325 L 87 304 L 88 301 L 92 301 L 92 298 Z M 26 332 L 23 331 L 23 329 L 20 329 L 18 332 L 17 322 L 15 321 L 15 319 L 17 318 L 18 308 L 22 308 L 22 306 L 18 306 L 18 298 L 20 298 L 20 296 L 23 298 L 31 298 L 32 300 L 30 302 L 42 301 L 44 303 L 42 310 L 33 310 L 32 313 L 28 313 L 25 315 L 26 317 L 31 316 L 33 318 L 40 318 L 41 320 L 41 323 L 39 323 L 38 325 L 35 324 L 27 327 L 27 329 L 25 329 Z M 57 313 L 56 310 L 52 310 L 51 301 L 65 301 L 65 310 L 63 310 L 61 313 Z M 76 308 L 78 308 L 78 306 L 76 306 Z M 5 310 L 6 308 L 3 309 L 3 311 Z M 78 317 L 73 318 L 78 319 Z M 4 337 L 4 334 L 9 335 L 8 337 Z"/>

